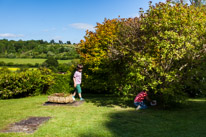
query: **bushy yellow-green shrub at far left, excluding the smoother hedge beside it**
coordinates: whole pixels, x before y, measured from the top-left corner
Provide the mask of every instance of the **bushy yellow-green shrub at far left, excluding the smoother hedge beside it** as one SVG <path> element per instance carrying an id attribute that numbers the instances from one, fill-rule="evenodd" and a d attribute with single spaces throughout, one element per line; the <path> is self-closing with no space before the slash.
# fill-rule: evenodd
<path id="1" fill-rule="evenodd" d="M 45 94 L 54 77 L 49 69 L 0 74 L 0 98 L 17 98 Z"/>

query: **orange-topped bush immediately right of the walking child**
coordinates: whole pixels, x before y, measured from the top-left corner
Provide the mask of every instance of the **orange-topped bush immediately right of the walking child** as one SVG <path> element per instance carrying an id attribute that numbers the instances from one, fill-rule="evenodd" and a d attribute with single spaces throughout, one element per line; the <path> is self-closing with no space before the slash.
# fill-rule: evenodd
<path id="1" fill-rule="evenodd" d="M 112 82 L 108 83 L 113 71 L 109 69 L 109 53 L 117 37 L 119 24 L 119 19 L 105 19 L 103 24 L 97 23 L 96 32 L 87 31 L 85 41 L 82 40 L 79 44 L 79 53 L 85 68 L 86 83 L 83 86 L 89 90 L 101 92 L 115 87 Z"/>

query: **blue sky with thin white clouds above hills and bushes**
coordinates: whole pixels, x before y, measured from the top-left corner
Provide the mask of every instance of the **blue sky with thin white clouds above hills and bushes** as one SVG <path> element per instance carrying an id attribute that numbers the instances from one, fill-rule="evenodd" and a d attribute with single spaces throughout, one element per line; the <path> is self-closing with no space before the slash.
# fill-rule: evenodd
<path id="1" fill-rule="evenodd" d="M 152 0 L 152 3 L 165 0 Z M 0 39 L 78 43 L 105 18 L 139 15 L 149 0 L 0 0 Z"/>

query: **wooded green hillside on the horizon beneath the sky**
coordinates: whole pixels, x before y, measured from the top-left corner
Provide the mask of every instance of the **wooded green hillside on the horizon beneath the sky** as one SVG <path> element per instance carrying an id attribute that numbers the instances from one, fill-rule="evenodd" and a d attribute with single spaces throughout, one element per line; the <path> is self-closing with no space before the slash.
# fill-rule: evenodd
<path id="1" fill-rule="evenodd" d="M 76 52 L 75 43 L 70 41 L 63 43 L 59 40 L 50 42 L 44 40 L 7 40 L 0 39 L 0 57 L 1 58 L 48 58 L 56 59 L 74 59 L 79 58 Z"/>

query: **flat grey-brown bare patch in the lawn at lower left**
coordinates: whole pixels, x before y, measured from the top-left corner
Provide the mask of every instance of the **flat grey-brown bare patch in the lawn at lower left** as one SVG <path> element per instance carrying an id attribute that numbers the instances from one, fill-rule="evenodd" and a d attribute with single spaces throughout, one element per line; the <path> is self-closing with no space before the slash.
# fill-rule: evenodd
<path id="1" fill-rule="evenodd" d="M 0 132 L 25 132 L 33 133 L 39 125 L 48 121 L 51 117 L 29 117 L 26 120 L 16 122 L 9 125 L 6 129 L 1 130 Z"/>

